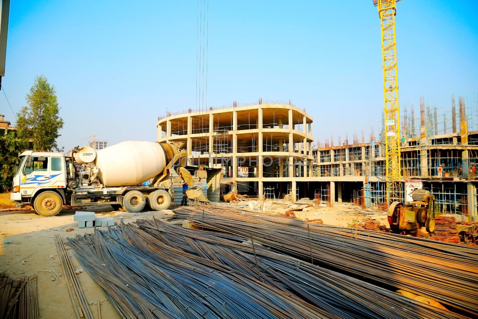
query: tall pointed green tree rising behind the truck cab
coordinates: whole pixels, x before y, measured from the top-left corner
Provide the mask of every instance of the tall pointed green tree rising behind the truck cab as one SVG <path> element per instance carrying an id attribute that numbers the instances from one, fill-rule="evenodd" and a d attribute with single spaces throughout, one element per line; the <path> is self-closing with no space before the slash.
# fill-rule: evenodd
<path id="1" fill-rule="evenodd" d="M 54 86 L 43 75 L 37 76 L 26 100 L 28 105 L 17 114 L 20 139 L 33 140 L 33 151 L 63 151 L 56 144 L 64 122 L 58 115 L 60 108 Z"/>

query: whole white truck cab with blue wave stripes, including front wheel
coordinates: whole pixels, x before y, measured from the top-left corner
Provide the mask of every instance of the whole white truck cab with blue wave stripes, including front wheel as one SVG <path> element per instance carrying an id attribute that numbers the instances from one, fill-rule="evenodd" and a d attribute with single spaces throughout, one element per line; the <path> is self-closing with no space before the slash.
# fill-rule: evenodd
<path id="1" fill-rule="evenodd" d="M 23 152 L 13 177 L 11 199 L 21 205 L 33 204 L 43 216 L 56 215 L 65 202 L 66 164 L 61 153 Z"/>

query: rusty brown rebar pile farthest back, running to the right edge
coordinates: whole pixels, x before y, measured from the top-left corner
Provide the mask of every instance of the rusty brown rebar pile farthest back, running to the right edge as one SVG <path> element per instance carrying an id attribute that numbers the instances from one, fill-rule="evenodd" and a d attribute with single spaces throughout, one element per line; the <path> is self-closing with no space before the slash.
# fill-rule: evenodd
<path id="1" fill-rule="evenodd" d="M 175 218 L 253 236 L 272 250 L 478 316 L 478 249 L 383 232 L 307 224 L 227 207 L 180 208 Z M 307 228 L 310 227 L 310 235 Z M 221 235 L 218 235 L 221 236 Z"/>

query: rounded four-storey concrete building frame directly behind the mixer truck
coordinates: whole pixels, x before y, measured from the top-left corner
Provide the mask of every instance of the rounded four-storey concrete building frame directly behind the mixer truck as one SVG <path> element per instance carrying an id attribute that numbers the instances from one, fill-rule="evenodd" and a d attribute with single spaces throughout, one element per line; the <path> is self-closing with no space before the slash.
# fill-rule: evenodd
<path id="1" fill-rule="evenodd" d="M 296 198 L 312 177 L 312 117 L 292 101 L 262 101 L 168 112 L 158 141 L 187 143 L 190 165 L 221 167 L 224 191 Z"/>

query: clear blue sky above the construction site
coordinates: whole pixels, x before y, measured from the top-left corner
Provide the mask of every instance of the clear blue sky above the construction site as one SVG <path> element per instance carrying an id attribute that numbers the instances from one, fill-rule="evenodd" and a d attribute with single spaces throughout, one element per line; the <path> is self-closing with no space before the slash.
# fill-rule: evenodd
<path id="1" fill-rule="evenodd" d="M 196 106 L 196 1 L 11 0 L 6 74 L 15 112 L 36 75 L 54 84 L 60 146 L 99 134 L 156 140 L 165 110 Z M 449 109 L 478 93 L 478 1 L 403 0 L 400 103 Z M 371 0 L 209 1 L 207 105 L 292 99 L 313 134 L 380 130 L 380 20 Z M 206 103 L 205 103 L 206 104 Z M 3 94 L 0 112 L 14 122 Z"/>

